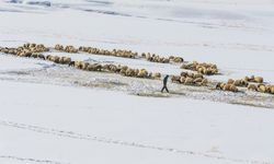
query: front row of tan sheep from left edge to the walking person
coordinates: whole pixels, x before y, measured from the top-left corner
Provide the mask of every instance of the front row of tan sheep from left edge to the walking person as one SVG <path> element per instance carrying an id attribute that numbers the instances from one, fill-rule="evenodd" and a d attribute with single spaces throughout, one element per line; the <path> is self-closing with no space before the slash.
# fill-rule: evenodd
<path id="1" fill-rule="evenodd" d="M 161 73 L 148 72 L 146 69 L 133 69 L 128 66 L 121 65 L 101 65 L 101 63 L 89 63 L 85 61 L 72 61 L 69 57 L 59 57 L 47 55 L 44 56 L 43 51 L 48 51 L 49 49 L 45 48 L 43 45 L 35 44 L 25 44 L 19 48 L 1 48 L 0 51 L 4 54 L 16 55 L 19 57 L 30 57 L 30 58 L 39 58 L 43 60 L 48 60 L 59 65 L 68 65 L 70 67 L 75 67 L 77 69 L 85 70 L 85 71 L 102 71 L 102 72 L 112 72 L 118 73 L 125 77 L 134 77 L 134 78 L 145 78 L 145 79 L 160 79 Z"/>

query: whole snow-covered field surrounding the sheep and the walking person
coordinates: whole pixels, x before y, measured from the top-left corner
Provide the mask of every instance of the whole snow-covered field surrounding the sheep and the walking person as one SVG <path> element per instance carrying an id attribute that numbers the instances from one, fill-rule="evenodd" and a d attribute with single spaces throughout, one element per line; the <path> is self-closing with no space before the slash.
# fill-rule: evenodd
<path id="1" fill-rule="evenodd" d="M 272 0 L 0 0 L 0 46 L 176 55 L 217 63 L 222 75 L 212 80 L 255 74 L 273 84 L 273 16 Z M 145 60 L 50 54 L 181 71 Z M 0 163 L 274 163 L 273 95 L 169 85 L 175 96 L 137 96 L 159 94 L 161 81 L 0 54 Z"/>

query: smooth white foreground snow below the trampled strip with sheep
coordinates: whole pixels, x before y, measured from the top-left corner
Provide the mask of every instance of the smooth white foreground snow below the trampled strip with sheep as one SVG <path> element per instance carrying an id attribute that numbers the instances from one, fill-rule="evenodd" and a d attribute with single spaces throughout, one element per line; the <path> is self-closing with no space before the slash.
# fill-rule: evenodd
<path id="1" fill-rule="evenodd" d="M 272 160 L 272 110 L 44 84 L 1 82 L 0 87 L 13 95 L 0 99 L 2 154 L 71 163 L 85 163 L 85 160 L 139 163 L 136 161 L 139 155 L 144 155 L 141 163 Z M 127 145 L 133 142 L 144 148 Z M 23 151 L 25 148 L 27 151 Z M 107 161 L 100 161 L 103 156 Z"/>

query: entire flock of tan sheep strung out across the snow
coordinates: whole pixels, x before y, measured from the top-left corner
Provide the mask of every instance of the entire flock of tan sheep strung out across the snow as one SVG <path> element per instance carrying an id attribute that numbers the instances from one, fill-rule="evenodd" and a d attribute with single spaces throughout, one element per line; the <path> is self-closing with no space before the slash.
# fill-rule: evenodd
<path id="1" fill-rule="evenodd" d="M 56 45 L 54 49 L 58 51 L 66 51 L 72 54 L 82 51 L 91 55 L 114 56 L 114 57 L 133 58 L 133 59 L 144 58 L 148 61 L 160 62 L 160 63 L 184 62 L 184 59 L 181 57 L 175 57 L 175 56 L 161 57 L 159 55 L 150 52 L 148 54 L 142 52 L 139 56 L 138 52 L 134 52 L 132 50 L 123 50 L 123 49 L 106 50 L 93 47 L 76 48 L 73 46 L 62 46 L 59 44 Z M 121 66 L 121 65 L 101 65 L 101 63 L 90 63 L 85 61 L 72 61 L 71 58 L 69 57 L 59 57 L 53 55 L 44 56 L 42 54 L 49 50 L 50 48 L 45 47 L 42 44 L 24 44 L 23 46 L 20 46 L 18 48 L 0 47 L 0 52 L 15 55 L 19 57 L 38 58 L 59 65 L 68 65 L 69 67 L 75 67 L 77 69 L 85 71 L 102 71 L 102 72 L 117 73 L 125 77 L 153 79 L 153 80 L 161 79 L 160 72 L 148 72 L 146 69 L 134 69 L 128 66 Z M 194 85 L 194 86 L 206 86 L 208 84 L 208 80 L 204 75 L 214 75 L 218 73 L 218 68 L 216 65 L 197 62 L 197 61 L 183 63 L 181 69 L 195 71 L 197 73 L 182 72 L 180 75 L 172 75 L 171 81 L 173 83 Z M 250 78 L 246 77 L 244 79 L 241 80 L 229 79 L 227 83 L 218 82 L 216 85 L 217 90 L 230 91 L 230 92 L 238 92 L 239 91 L 238 87 L 247 87 L 250 91 L 274 94 L 274 85 L 264 84 L 263 78 L 261 77 L 252 75 Z"/>

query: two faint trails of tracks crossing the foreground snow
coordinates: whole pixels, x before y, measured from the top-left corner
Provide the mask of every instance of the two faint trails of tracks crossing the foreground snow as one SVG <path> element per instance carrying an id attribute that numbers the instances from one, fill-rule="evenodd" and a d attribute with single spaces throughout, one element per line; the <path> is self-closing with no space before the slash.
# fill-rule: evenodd
<path id="1" fill-rule="evenodd" d="M 98 137 L 98 136 L 83 134 L 83 133 L 78 133 L 78 132 L 73 132 L 73 131 L 65 131 L 65 130 L 38 127 L 38 126 L 33 126 L 33 125 L 19 124 L 19 122 L 7 121 L 7 120 L 0 120 L 0 126 L 24 129 L 24 130 L 28 130 L 28 131 L 34 131 L 34 132 L 45 133 L 45 134 L 53 134 L 53 136 L 58 136 L 58 137 L 64 137 L 64 138 L 95 141 L 95 142 L 102 142 L 102 143 L 106 143 L 106 144 L 117 144 L 117 145 L 132 147 L 132 148 L 138 148 L 138 149 L 149 149 L 149 150 L 156 150 L 156 151 L 163 151 L 163 152 L 168 152 L 168 153 L 176 153 L 176 154 L 181 154 L 181 155 L 209 157 L 209 159 L 222 160 L 222 161 L 235 162 L 235 163 L 272 164 L 270 162 L 263 162 L 263 161 L 232 159 L 232 157 L 226 157 L 226 156 L 221 156 L 221 155 L 207 154 L 207 153 L 203 153 L 203 152 L 178 150 L 178 149 L 173 149 L 173 148 L 150 145 L 150 144 L 144 144 L 144 143 L 138 143 L 138 142 L 128 142 L 128 141 L 115 140 L 115 139 L 110 139 L 110 138 L 102 138 L 102 137 Z M 0 157 L 13 159 L 13 160 L 20 160 L 20 161 L 34 161 L 37 163 L 62 164 L 62 163 L 58 163 L 58 162 L 54 162 L 54 161 L 21 159 L 21 157 L 15 157 L 15 156 L 0 156 Z"/>

